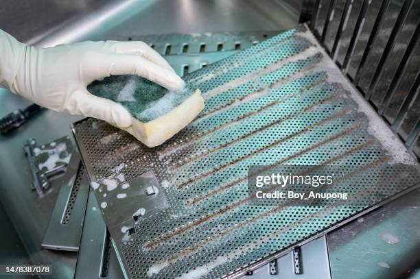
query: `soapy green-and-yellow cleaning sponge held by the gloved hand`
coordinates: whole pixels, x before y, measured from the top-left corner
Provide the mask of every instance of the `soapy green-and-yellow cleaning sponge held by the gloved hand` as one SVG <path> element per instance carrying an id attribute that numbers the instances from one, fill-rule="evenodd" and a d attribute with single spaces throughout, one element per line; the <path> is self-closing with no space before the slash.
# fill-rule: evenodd
<path id="1" fill-rule="evenodd" d="M 190 123 L 204 108 L 200 90 L 185 86 L 168 91 L 135 75 L 115 75 L 88 86 L 93 95 L 124 106 L 132 125 L 123 128 L 148 147 L 161 145 Z"/>

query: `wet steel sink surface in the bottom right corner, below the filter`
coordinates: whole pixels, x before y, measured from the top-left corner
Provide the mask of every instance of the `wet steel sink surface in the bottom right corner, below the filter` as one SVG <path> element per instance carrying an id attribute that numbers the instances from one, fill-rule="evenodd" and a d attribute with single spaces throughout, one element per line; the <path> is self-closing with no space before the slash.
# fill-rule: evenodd
<path id="1" fill-rule="evenodd" d="M 327 236 L 332 278 L 418 278 L 420 191 Z"/>

